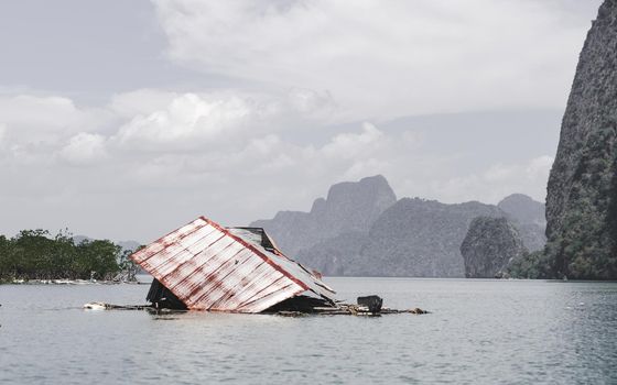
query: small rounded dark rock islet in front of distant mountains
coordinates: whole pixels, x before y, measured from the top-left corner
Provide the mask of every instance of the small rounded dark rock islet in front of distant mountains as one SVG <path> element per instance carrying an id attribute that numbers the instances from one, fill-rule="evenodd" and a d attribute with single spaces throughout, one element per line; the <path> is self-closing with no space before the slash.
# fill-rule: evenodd
<path id="1" fill-rule="evenodd" d="M 506 218 L 475 218 L 461 244 L 467 278 L 492 278 L 526 253 L 517 228 Z"/>

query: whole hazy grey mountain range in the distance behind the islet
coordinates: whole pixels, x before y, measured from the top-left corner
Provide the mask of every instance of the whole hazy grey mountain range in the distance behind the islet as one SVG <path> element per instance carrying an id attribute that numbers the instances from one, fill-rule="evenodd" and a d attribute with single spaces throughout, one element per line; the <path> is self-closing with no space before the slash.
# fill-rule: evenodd
<path id="1" fill-rule="evenodd" d="M 381 175 L 331 187 L 310 212 L 251 223 L 289 256 L 325 275 L 464 277 L 461 244 L 477 217 L 507 218 L 528 250 L 542 249 L 544 205 L 516 194 L 497 206 L 402 198 Z"/>

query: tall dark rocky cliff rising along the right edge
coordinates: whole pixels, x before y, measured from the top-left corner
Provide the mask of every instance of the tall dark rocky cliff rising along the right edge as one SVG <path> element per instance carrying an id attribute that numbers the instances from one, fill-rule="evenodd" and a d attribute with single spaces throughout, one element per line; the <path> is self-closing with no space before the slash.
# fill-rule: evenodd
<path id="1" fill-rule="evenodd" d="M 580 56 L 546 196 L 554 276 L 617 278 L 617 1 Z"/>

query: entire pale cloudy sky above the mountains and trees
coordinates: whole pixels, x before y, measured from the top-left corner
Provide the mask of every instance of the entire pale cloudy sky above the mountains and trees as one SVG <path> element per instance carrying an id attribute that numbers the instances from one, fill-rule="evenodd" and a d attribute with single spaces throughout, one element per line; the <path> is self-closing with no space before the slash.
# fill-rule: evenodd
<path id="1" fill-rule="evenodd" d="M 599 3 L 0 2 L 0 233 L 148 242 L 376 174 L 543 201 Z"/>

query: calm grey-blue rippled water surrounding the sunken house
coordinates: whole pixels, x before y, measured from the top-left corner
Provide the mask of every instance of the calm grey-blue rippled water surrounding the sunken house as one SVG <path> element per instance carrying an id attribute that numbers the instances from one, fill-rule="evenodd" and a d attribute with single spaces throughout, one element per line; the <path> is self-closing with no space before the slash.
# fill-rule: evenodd
<path id="1" fill-rule="evenodd" d="M 617 384 L 617 284 L 326 278 L 431 315 L 83 310 L 148 285 L 0 286 L 0 383 Z"/>

